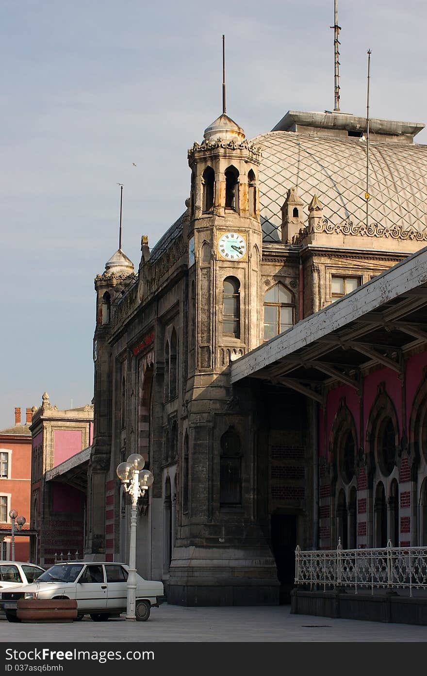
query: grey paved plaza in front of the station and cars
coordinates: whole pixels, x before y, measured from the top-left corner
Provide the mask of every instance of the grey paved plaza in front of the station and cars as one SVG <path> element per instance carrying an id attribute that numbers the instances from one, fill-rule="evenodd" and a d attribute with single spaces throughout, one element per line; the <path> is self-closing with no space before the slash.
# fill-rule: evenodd
<path id="1" fill-rule="evenodd" d="M 163 604 L 147 622 L 9 623 L 1 642 L 425 642 L 427 627 L 292 615 L 291 606 L 182 608 Z"/>

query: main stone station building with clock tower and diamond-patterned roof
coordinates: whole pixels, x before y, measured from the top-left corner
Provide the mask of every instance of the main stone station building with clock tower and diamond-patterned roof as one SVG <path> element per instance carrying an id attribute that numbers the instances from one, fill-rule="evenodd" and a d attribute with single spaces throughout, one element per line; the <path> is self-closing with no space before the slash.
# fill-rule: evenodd
<path id="1" fill-rule="evenodd" d="M 116 466 L 144 454 L 137 566 L 172 603 L 277 603 L 317 537 L 304 386 L 284 402 L 286 378 L 236 387 L 230 365 L 427 241 L 423 125 L 372 121 L 366 214 L 364 123 L 290 112 L 248 141 L 223 114 L 189 150 L 182 216 L 143 236 L 137 273 L 119 250 L 95 279 L 85 552 L 127 560 Z"/>

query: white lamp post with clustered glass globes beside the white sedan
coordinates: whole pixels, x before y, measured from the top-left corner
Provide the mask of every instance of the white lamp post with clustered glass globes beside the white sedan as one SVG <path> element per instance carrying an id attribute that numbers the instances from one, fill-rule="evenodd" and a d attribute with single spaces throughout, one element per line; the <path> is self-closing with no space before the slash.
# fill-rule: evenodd
<path id="1" fill-rule="evenodd" d="M 153 474 L 144 469 L 145 460 L 139 453 L 132 453 L 126 462 L 120 462 L 116 472 L 122 481 L 124 490 L 132 500 L 130 512 L 130 547 L 129 547 L 129 575 L 128 575 L 128 605 L 126 620 L 136 620 L 136 508 L 138 499 L 145 494 L 154 481 Z"/>

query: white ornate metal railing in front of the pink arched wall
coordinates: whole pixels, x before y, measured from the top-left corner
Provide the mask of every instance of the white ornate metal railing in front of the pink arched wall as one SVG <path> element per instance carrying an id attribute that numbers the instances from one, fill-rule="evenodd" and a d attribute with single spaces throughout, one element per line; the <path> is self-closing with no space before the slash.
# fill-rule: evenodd
<path id="1" fill-rule="evenodd" d="M 392 547 L 302 552 L 295 550 L 295 584 L 310 589 L 427 589 L 427 547 Z"/>

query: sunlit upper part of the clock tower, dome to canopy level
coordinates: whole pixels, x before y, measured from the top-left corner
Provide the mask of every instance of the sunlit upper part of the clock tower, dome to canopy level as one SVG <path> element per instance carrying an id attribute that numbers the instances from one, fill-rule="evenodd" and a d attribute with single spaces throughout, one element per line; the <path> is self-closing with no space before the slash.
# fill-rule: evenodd
<path id="1" fill-rule="evenodd" d="M 199 313 L 196 370 L 222 371 L 261 342 L 260 160 L 259 149 L 226 114 L 189 150 L 189 251 L 194 251 Z"/>

